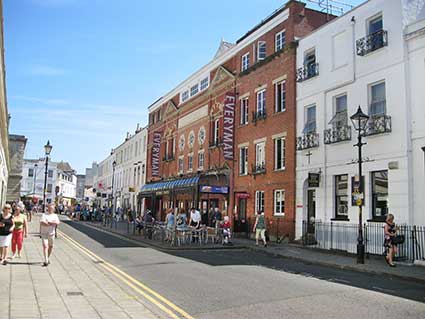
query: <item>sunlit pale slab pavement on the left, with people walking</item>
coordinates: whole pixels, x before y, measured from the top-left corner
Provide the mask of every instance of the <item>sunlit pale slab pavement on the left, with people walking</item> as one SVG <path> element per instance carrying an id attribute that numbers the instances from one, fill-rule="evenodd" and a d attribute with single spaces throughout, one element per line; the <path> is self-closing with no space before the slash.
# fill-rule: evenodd
<path id="1" fill-rule="evenodd" d="M 42 267 L 38 221 L 29 223 L 22 258 L 0 266 L 0 318 L 166 317 L 61 236 Z"/>

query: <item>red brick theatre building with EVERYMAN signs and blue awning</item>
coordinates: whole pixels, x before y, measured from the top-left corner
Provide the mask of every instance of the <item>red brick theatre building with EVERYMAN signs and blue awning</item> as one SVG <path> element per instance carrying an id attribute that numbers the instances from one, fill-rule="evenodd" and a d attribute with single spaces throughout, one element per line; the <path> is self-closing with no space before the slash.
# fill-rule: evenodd
<path id="1" fill-rule="evenodd" d="M 169 207 L 219 207 L 248 232 L 264 209 L 272 235 L 293 237 L 295 40 L 327 19 L 289 1 L 149 107 L 139 196 L 157 218 Z"/>

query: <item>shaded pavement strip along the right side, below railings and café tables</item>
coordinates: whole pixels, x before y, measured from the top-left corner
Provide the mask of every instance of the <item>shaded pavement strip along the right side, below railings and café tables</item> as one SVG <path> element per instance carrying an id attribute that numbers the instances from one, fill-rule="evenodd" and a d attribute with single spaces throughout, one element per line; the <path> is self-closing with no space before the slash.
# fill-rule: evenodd
<path id="1" fill-rule="evenodd" d="M 341 254 L 337 252 L 314 249 L 298 244 L 275 244 L 269 243 L 268 247 L 256 246 L 255 241 L 244 238 L 233 238 L 233 246 L 222 245 L 191 245 L 182 247 L 171 247 L 167 243 L 145 239 L 141 235 L 133 232 L 132 225 L 127 222 L 119 222 L 110 227 L 103 227 L 101 223 L 84 222 L 108 232 L 122 235 L 132 240 L 143 243 L 159 250 L 209 250 L 209 249 L 250 249 L 252 251 L 262 252 L 271 256 L 293 259 L 306 263 L 333 267 L 336 269 L 346 269 L 356 272 L 369 273 L 374 275 L 387 276 L 413 282 L 425 283 L 425 267 L 410 263 L 396 262 L 397 267 L 389 267 L 383 256 L 370 255 L 365 259 L 364 264 L 357 264 L 356 256 L 350 254 Z"/>

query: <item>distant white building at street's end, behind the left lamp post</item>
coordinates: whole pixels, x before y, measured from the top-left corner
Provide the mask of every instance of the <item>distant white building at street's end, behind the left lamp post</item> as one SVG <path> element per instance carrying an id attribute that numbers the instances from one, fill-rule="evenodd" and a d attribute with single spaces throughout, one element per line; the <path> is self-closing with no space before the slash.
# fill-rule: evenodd
<path id="1" fill-rule="evenodd" d="M 24 159 L 21 196 L 43 200 L 45 159 Z M 50 162 L 47 170 L 46 202 L 71 205 L 76 199 L 77 177 L 67 162 Z"/>

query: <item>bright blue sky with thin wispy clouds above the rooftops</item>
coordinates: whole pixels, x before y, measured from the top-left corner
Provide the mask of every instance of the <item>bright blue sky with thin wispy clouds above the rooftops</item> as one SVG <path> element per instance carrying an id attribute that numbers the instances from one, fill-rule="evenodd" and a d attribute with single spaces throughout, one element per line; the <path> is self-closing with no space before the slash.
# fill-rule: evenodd
<path id="1" fill-rule="evenodd" d="M 340 0 L 339 0 L 340 1 Z M 359 4 L 363 0 L 343 0 Z M 284 0 L 3 0 L 10 133 L 84 173 Z"/>

